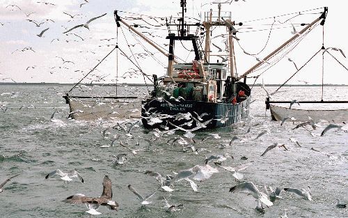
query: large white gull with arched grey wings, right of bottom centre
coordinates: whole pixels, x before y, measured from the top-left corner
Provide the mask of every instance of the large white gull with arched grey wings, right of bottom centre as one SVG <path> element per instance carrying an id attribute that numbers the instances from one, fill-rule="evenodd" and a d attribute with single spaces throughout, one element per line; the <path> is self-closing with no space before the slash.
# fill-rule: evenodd
<path id="1" fill-rule="evenodd" d="M 260 200 L 267 206 L 273 205 L 271 201 L 267 198 L 267 195 L 263 192 L 260 192 L 258 187 L 256 187 L 253 182 L 242 182 L 234 187 L 230 188 L 230 192 L 246 192 L 247 194 L 251 194 L 254 198 Z"/>

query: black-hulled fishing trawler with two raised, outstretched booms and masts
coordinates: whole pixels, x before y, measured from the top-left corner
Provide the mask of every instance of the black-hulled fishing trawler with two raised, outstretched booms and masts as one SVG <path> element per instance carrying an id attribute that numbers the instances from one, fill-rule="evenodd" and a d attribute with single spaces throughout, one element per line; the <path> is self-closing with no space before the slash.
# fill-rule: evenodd
<path id="1" fill-rule="evenodd" d="M 122 118 L 122 116 L 125 117 L 127 111 L 129 114 L 129 111 L 136 111 L 136 106 L 139 106 L 144 127 L 178 128 L 188 131 L 200 128 L 226 127 L 246 120 L 251 104 L 251 87 L 247 84 L 247 76 L 257 70 L 271 68 L 271 66 L 278 63 L 317 24 L 324 25 L 327 13 L 327 8 L 324 8 L 324 11 L 320 13 L 317 19 L 309 24 L 301 25 L 304 26 L 301 31 L 284 42 L 283 45 L 274 49 L 273 52 L 270 52 L 264 59 L 258 59 L 258 63 L 249 68 L 244 74 L 238 75 L 235 41 L 239 40 L 239 38 L 237 38 L 238 30 L 235 26 L 242 26 L 242 22 L 236 23 L 232 21 L 231 13 L 222 11 L 222 4 L 217 3 L 218 10 L 206 12 L 203 22 L 189 23 L 185 20 L 186 1 L 180 0 L 180 6 L 182 9 L 181 17 L 169 21 L 166 19 L 165 26 L 168 29 L 166 40 L 169 40 L 168 50 L 159 47 L 156 42 L 144 36 L 141 31 L 138 31 L 136 26 L 139 25 L 127 24 L 125 21 L 127 19 L 121 17 L 118 10 L 114 11 L 118 28 L 123 25 L 126 26 L 127 30 L 135 33 L 167 57 L 166 75 L 162 77 L 158 77 L 155 74 L 152 75 L 153 90 L 149 92 L 149 95 L 143 99 L 141 104 L 128 104 L 128 106 L 125 106 L 124 111 L 121 112 L 105 109 L 103 107 L 104 104 L 97 104 L 99 107 L 103 107 L 103 109 L 93 112 L 93 116 L 95 116 L 96 112 L 102 111 L 104 113 L 103 117 Z M 214 54 L 211 49 L 212 34 L 213 30 L 215 33 L 215 30 L 219 28 L 224 31 L 223 36 L 226 37 L 226 49 L 224 51 L 221 49 L 223 54 L 221 54 L 221 51 L 218 54 Z M 191 61 L 179 62 L 178 56 L 180 56 L 180 53 L 179 55 L 175 53 L 179 43 L 175 42 L 180 42 L 182 46 L 184 46 L 183 42 L 191 42 L 191 51 L 194 53 Z M 205 45 L 204 48 L 201 46 L 203 43 Z M 129 56 L 118 45 L 116 45 L 115 49 L 119 49 L 122 52 L 122 56 L 129 59 Z M 244 53 L 248 54 L 245 51 Z M 214 57 L 221 58 L 221 62 L 214 62 Z M 137 65 L 136 67 L 139 68 Z M 142 72 L 144 78 L 145 76 L 148 77 L 140 68 L 139 71 Z M 257 79 L 258 77 L 254 78 Z M 65 100 L 70 104 L 71 113 L 75 117 L 81 118 L 81 115 L 84 115 L 85 112 L 77 114 L 79 110 L 77 107 L 72 106 L 72 100 L 74 99 L 76 102 L 77 98 L 79 96 L 65 95 Z M 105 100 L 106 98 L 97 99 Z M 125 99 L 129 100 L 130 98 Z M 84 103 L 81 103 L 81 98 L 79 102 L 80 106 L 84 106 Z M 115 109 L 114 104 L 114 102 L 109 102 L 108 105 Z M 120 103 L 117 102 L 116 104 Z"/>

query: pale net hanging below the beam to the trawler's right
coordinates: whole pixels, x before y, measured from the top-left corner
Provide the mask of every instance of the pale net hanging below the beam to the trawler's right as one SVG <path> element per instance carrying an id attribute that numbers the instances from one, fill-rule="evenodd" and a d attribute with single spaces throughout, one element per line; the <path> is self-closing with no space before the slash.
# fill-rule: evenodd
<path id="1" fill-rule="evenodd" d="M 278 105 L 270 104 L 272 120 L 281 121 L 285 117 L 294 117 L 297 121 L 306 122 L 308 116 L 313 120 L 348 120 L 348 109 L 338 110 L 306 110 L 306 109 L 289 109 Z"/>

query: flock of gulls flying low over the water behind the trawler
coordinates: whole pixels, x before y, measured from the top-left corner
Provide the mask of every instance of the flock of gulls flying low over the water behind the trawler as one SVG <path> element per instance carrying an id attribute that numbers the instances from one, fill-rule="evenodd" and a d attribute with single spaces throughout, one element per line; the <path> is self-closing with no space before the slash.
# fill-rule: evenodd
<path id="1" fill-rule="evenodd" d="M 295 101 L 293 101 L 292 104 L 294 102 Z M 196 123 L 199 123 L 200 122 L 199 120 L 203 120 L 203 117 L 207 115 L 207 114 L 197 114 L 197 113 L 195 114 L 197 115 L 197 118 L 194 119 Z M 187 114 L 178 113 L 176 117 L 176 119 L 181 119 L 181 120 L 184 120 L 184 119 L 190 120 L 192 118 L 193 116 L 190 113 L 187 113 Z M 292 119 L 287 118 L 286 120 L 291 120 L 291 122 L 293 123 L 296 121 L 296 119 L 294 118 Z M 281 122 L 280 125 L 285 125 L 286 120 L 283 120 L 283 122 Z M 204 139 L 202 139 L 202 142 L 199 142 L 198 139 L 195 139 L 195 134 L 193 134 L 192 132 L 195 130 L 200 130 L 204 128 L 205 125 L 200 123 L 200 125 L 198 125 L 199 126 L 198 128 L 196 129 L 193 128 L 191 130 L 184 127 L 178 127 L 176 125 L 173 125 L 174 128 L 171 130 L 169 128 L 164 128 L 164 130 L 162 131 L 157 129 L 153 130 L 152 138 L 143 139 L 143 141 L 148 142 L 148 146 L 139 148 L 141 146 L 139 146 L 139 142 L 137 142 L 136 147 L 138 149 L 132 148 L 132 146 L 129 146 L 129 144 L 132 144 L 132 139 L 134 139 L 134 135 L 132 132 L 134 128 L 139 127 L 139 120 L 120 121 L 116 123 L 116 125 L 114 125 L 113 127 L 106 128 L 104 131 L 102 131 L 102 135 L 105 139 L 107 139 L 109 135 L 111 135 L 111 132 L 110 132 L 111 130 L 116 130 L 120 132 L 120 134 L 116 134 L 113 137 L 111 146 L 112 147 L 116 146 L 116 141 L 118 141 L 118 144 L 126 148 L 127 150 L 129 150 L 132 153 L 132 155 L 139 155 L 139 152 L 151 150 L 154 141 L 160 139 L 161 136 L 164 136 L 165 134 L 173 135 L 175 131 L 182 130 L 186 132 L 185 134 L 183 134 L 183 137 L 174 135 L 173 137 L 171 137 L 171 139 L 168 139 L 167 141 L 168 146 L 175 146 L 176 144 L 178 144 L 182 147 L 183 152 L 185 153 L 192 152 L 196 155 L 200 155 L 200 153 L 211 152 L 211 150 L 207 150 L 206 148 L 200 148 L 200 149 L 196 148 L 197 146 L 199 146 L 200 143 L 203 143 L 203 142 L 205 143 L 205 141 L 209 139 L 214 139 L 214 140 L 221 139 L 219 134 L 216 134 L 216 133 L 207 134 L 207 136 L 204 137 Z M 320 125 L 315 123 L 314 120 L 310 119 L 307 122 L 299 123 L 298 125 L 296 125 L 296 127 L 294 127 L 294 129 L 299 127 L 305 127 L 306 125 L 313 127 L 313 130 L 315 130 L 317 127 L 321 127 Z M 190 125 L 186 125 L 186 126 L 189 127 Z M 251 128 L 252 126 L 248 128 L 247 132 L 245 132 L 244 135 L 251 132 Z M 325 134 L 327 134 L 329 130 L 333 128 L 337 128 L 338 130 L 343 130 L 345 132 L 348 131 L 347 125 L 336 125 L 331 123 L 327 125 L 324 128 L 324 130 L 322 130 L 321 136 L 323 137 Z M 253 139 L 250 139 L 250 137 L 248 137 L 249 139 L 246 139 L 246 138 L 241 139 L 235 136 L 235 137 L 232 137 L 232 139 L 230 139 L 230 143 L 219 144 L 216 147 L 223 149 L 223 148 L 226 148 L 227 146 L 231 146 L 233 141 L 237 141 L 237 140 L 244 141 L 244 142 L 248 140 L 249 141 L 261 140 L 262 137 L 264 137 L 264 135 L 266 134 L 271 134 L 271 132 L 269 130 L 262 130 Z M 126 137 L 127 140 L 125 142 L 120 141 L 119 139 L 120 135 L 123 135 L 123 137 Z M 185 139 L 185 137 L 187 139 Z M 294 139 L 293 137 L 290 138 L 290 141 L 292 141 L 292 143 L 294 143 L 295 146 L 301 147 L 301 144 L 299 143 L 299 141 L 296 141 L 296 139 Z M 273 143 L 271 146 L 268 146 L 266 150 L 264 150 L 264 152 L 260 156 L 264 157 L 265 155 L 267 155 L 267 153 L 269 153 L 270 150 L 277 147 L 284 148 L 284 150 L 289 150 L 289 147 L 285 146 L 284 143 L 283 144 Z M 319 150 L 315 150 L 315 148 L 311 148 L 310 150 L 319 151 Z M 125 164 L 127 162 L 127 156 L 128 156 L 127 153 L 119 153 L 117 155 L 110 155 L 110 157 L 114 158 L 113 159 L 114 166 Z M 252 166 L 251 162 L 242 164 L 242 165 L 237 165 L 237 166 L 226 166 L 225 164 L 223 164 L 223 162 L 226 161 L 226 159 L 233 159 L 233 157 L 232 155 L 228 153 L 224 155 L 205 155 L 203 165 L 195 165 L 189 169 L 183 169 L 177 172 L 173 171 L 172 175 L 166 174 L 165 176 L 162 176 L 161 173 L 158 173 L 156 171 L 147 170 L 144 172 L 144 174 L 155 178 L 155 180 L 157 180 L 157 185 L 158 185 L 158 187 L 153 192 L 150 192 L 150 194 L 147 194 L 147 195 L 143 195 L 139 193 L 136 190 L 136 187 L 134 187 L 133 185 L 128 185 L 127 188 L 137 198 L 139 198 L 141 205 L 149 205 L 152 203 L 150 199 L 153 196 L 155 196 L 157 192 L 159 192 L 159 190 L 161 190 L 162 192 L 174 192 L 176 189 L 175 186 L 177 185 L 177 182 L 188 182 L 193 192 L 198 192 L 198 185 L 196 184 L 195 180 L 202 182 L 204 180 L 211 178 L 214 175 L 214 173 L 219 173 L 220 171 L 228 171 L 231 173 L 232 177 L 235 178 L 235 181 L 237 182 L 237 185 L 230 187 L 229 191 L 231 193 L 238 193 L 238 192 L 246 193 L 252 196 L 253 198 L 255 198 L 255 201 L 256 201 L 255 210 L 258 210 L 259 212 L 264 212 L 264 210 L 267 210 L 267 208 L 273 206 L 276 201 L 280 201 L 280 199 L 282 198 L 282 195 L 281 195 L 282 192 L 292 193 L 308 201 L 313 201 L 312 193 L 310 192 L 310 187 L 308 187 L 308 189 L 295 188 L 295 187 L 276 187 L 274 189 L 273 187 L 270 187 L 270 186 L 267 187 L 266 185 L 263 185 L 260 187 L 258 185 L 255 185 L 251 181 L 244 180 L 242 171 Z M 244 159 L 247 159 L 247 157 L 245 157 Z M 213 166 L 215 167 L 211 166 L 210 163 L 214 163 Z M 16 178 L 19 175 L 20 174 L 11 176 L 7 180 L 5 180 L 5 182 L 3 182 L 0 185 L 0 192 L 3 192 L 3 189 L 1 188 L 4 185 L 6 185 L 7 182 L 9 182 L 10 180 L 13 180 L 13 178 Z M 56 169 L 50 173 L 47 173 L 47 176 L 45 176 L 45 179 L 49 179 L 49 178 L 57 177 L 57 176 L 64 182 L 71 182 L 74 179 L 84 182 L 84 178 L 82 178 L 82 176 L 80 175 L 79 172 L 76 171 L 76 169 L 72 171 L 68 171 L 67 173 L 64 173 L 60 169 Z M 109 176 L 104 176 L 102 186 L 103 186 L 103 192 L 101 196 L 99 197 L 89 197 L 89 196 L 85 196 L 84 194 L 74 194 L 72 196 L 68 196 L 63 201 L 66 203 L 86 204 L 86 208 L 88 208 L 86 212 L 89 215 L 100 215 L 101 213 L 98 211 L 98 209 L 100 208 L 100 205 L 104 205 L 111 210 L 117 211 L 120 205 L 115 200 L 113 200 L 113 192 L 112 192 L 111 180 Z M 184 208 L 184 205 L 182 204 L 171 205 L 170 203 L 168 203 L 166 198 L 164 198 L 164 201 L 166 202 L 167 212 L 175 212 L 178 210 L 182 210 Z M 342 203 L 340 199 L 337 199 L 336 207 L 346 208 L 347 203 Z M 287 217 L 286 211 L 284 212 L 282 216 Z"/>

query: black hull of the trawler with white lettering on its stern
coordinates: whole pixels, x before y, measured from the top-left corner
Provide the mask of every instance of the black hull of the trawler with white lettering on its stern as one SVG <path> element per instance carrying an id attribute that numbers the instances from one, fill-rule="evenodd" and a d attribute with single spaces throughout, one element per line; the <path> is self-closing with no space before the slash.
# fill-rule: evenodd
<path id="1" fill-rule="evenodd" d="M 170 102 L 170 104 L 168 104 Z M 250 96 L 244 101 L 237 104 L 224 104 L 224 103 L 214 103 L 214 102 L 203 102 L 203 101 L 193 101 L 193 100 L 183 100 L 181 102 L 157 100 L 155 98 L 143 101 L 143 109 L 141 110 L 142 122 L 146 128 L 159 128 L 163 129 L 164 127 L 174 128 L 175 126 L 171 125 L 182 125 L 189 122 L 189 120 L 175 120 L 175 116 L 178 113 L 186 114 L 190 113 L 191 116 L 198 119 L 198 115 L 207 113 L 209 115 L 203 116 L 200 120 L 200 123 L 205 123 L 208 120 L 211 120 L 207 124 L 207 128 L 216 128 L 216 127 L 227 127 L 234 123 L 239 123 L 242 120 L 248 118 L 249 110 L 248 105 L 250 104 Z M 172 105 L 171 105 L 172 104 Z M 151 109 L 152 108 L 152 109 Z M 150 114 L 159 114 L 159 116 L 169 115 L 171 118 L 161 119 L 161 123 L 155 123 L 154 125 L 149 125 L 149 120 L 151 115 L 146 113 L 150 109 Z M 221 122 L 221 117 L 223 117 L 227 111 L 228 116 L 226 121 Z M 196 112 L 196 113 L 194 113 Z M 150 122 L 151 123 L 151 122 Z M 193 121 L 191 125 L 183 125 L 184 129 L 190 130 L 196 127 L 196 122 Z"/>

